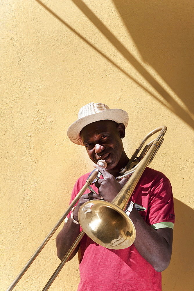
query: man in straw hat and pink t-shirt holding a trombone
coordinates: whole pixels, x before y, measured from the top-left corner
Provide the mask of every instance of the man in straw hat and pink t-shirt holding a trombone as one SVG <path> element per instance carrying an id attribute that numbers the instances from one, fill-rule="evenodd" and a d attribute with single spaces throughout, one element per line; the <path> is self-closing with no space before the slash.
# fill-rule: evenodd
<path id="1" fill-rule="evenodd" d="M 127 123 L 126 111 L 109 109 L 105 104 L 89 103 L 80 109 L 78 120 L 68 129 L 69 139 L 84 145 L 95 164 L 98 159 L 105 160 L 107 168 L 95 165 L 103 177 L 91 187 L 99 194 L 87 190 L 58 234 L 57 254 L 61 260 L 80 233 L 80 206 L 93 198 L 111 202 L 127 181 L 127 178 L 120 182 L 115 179 L 129 161 L 122 143 Z M 77 180 L 71 201 L 85 184 L 88 175 Z M 170 263 L 175 218 L 168 178 L 147 167 L 131 200 L 134 207 L 130 219 L 136 228 L 134 243 L 126 249 L 112 250 L 96 244 L 85 235 L 71 255 L 73 258 L 80 247 L 78 291 L 161 291 L 160 272 Z"/>

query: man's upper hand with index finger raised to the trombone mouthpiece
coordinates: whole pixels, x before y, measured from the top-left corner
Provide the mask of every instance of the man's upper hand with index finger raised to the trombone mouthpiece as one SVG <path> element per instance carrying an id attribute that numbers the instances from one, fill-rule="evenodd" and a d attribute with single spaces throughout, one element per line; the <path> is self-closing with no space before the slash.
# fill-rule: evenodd
<path id="1" fill-rule="evenodd" d="M 105 201 L 112 202 L 118 192 L 123 188 L 128 178 L 123 178 L 120 182 L 117 182 L 114 176 L 102 166 L 94 165 L 94 168 L 97 168 L 104 178 L 95 182 L 95 186 L 98 188 L 98 193 Z"/>

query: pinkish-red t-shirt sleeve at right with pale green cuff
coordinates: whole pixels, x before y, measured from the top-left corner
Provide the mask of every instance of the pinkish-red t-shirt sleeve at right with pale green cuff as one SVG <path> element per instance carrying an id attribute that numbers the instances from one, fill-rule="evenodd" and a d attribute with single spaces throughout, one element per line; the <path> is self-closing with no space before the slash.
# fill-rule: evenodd
<path id="1" fill-rule="evenodd" d="M 146 222 L 154 229 L 170 227 L 175 222 L 173 193 L 170 181 L 164 179 L 150 191 Z"/>

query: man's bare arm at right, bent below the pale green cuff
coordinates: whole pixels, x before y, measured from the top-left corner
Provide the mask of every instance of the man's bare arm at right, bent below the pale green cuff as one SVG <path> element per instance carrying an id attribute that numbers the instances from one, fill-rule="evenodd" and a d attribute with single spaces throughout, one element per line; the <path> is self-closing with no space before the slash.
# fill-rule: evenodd
<path id="1" fill-rule="evenodd" d="M 136 228 L 136 239 L 134 246 L 157 272 L 166 269 L 170 263 L 172 252 L 172 235 L 168 235 L 167 229 L 161 231 L 165 233 L 165 238 L 160 231 L 151 228 L 140 216 L 138 211 L 133 208 L 130 219 Z M 168 229 L 169 231 L 169 229 Z M 171 230 L 170 230 L 171 232 Z"/>

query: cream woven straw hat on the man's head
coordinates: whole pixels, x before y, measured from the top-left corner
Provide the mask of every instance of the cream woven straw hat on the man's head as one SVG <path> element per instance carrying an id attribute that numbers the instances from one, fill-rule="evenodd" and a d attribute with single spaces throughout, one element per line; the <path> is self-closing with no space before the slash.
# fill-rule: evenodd
<path id="1" fill-rule="evenodd" d="M 129 116 L 122 109 L 109 109 L 105 104 L 89 103 L 83 106 L 78 113 L 78 120 L 70 125 L 67 136 L 70 141 L 77 145 L 83 145 L 80 131 L 89 123 L 99 120 L 113 120 L 116 123 L 123 123 L 125 128 L 128 124 Z"/>

